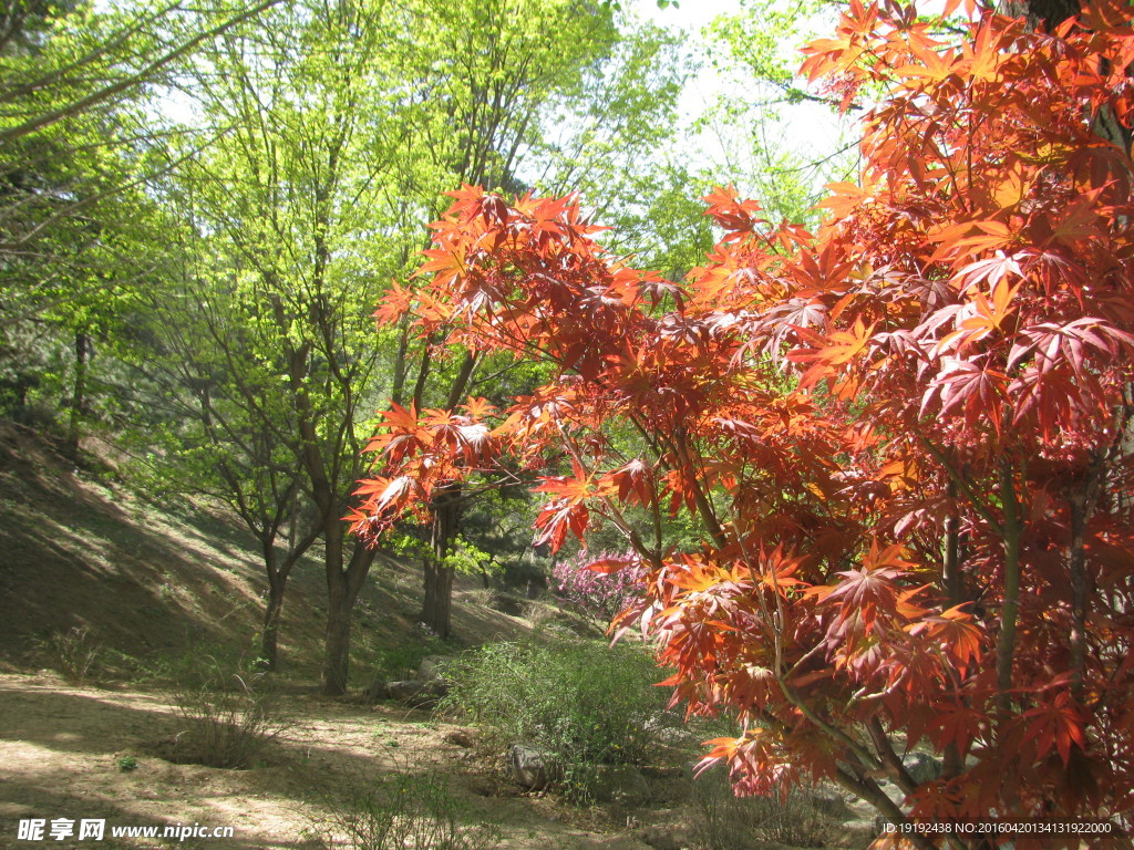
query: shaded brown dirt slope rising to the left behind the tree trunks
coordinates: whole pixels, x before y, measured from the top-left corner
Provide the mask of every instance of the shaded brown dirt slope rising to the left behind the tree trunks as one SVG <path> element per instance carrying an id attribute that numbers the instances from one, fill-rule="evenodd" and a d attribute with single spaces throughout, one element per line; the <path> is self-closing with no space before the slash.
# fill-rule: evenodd
<path id="1" fill-rule="evenodd" d="M 375 564 L 355 619 L 357 687 L 367 683 L 367 648 L 413 634 L 418 580 L 415 569 Z M 255 544 L 231 517 L 147 503 L 0 422 L 0 670 L 52 665 L 43 643 L 76 627 L 111 651 L 102 662 L 124 675 L 185 646 L 253 653 L 265 586 Z M 458 601 L 472 592 L 458 583 Z M 284 674 L 296 683 L 318 679 L 324 594 L 318 556 L 308 556 L 293 572 L 281 634 Z M 483 606 L 456 606 L 466 643 L 525 628 Z"/>

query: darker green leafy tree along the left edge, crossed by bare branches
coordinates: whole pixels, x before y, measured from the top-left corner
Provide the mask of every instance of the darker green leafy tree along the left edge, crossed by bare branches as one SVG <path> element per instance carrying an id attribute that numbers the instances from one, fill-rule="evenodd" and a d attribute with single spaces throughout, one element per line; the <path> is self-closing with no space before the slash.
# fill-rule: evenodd
<path id="1" fill-rule="evenodd" d="M 203 44 L 278 0 L 208 11 L 0 5 L 0 405 L 67 411 L 77 453 L 96 348 L 150 281 L 149 97 Z"/>

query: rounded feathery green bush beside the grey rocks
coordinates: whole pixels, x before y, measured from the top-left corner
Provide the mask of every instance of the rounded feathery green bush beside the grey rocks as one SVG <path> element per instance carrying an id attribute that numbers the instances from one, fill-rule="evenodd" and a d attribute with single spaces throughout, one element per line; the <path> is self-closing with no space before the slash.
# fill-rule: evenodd
<path id="1" fill-rule="evenodd" d="M 650 760 L 663 717 L 663 674 L 638 646 L 560 638 L 498 643 L 450 669 L 441 704 L 483 726 L 499 745 L 523 742 L 564 765 Z"/>

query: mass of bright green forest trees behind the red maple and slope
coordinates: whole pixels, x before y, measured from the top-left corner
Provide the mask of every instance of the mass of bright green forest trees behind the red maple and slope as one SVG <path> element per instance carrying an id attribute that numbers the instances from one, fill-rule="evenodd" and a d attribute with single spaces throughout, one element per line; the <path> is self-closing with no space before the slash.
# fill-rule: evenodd
<path id="1" fill-rule="evenodd" d="M 837 138 L 816 154 L 773 137 L 777 110 L 805 99 L 790 45 L 822 16 L 736 11 L 686 41 L 618 5 L 14 0 L 0 415 L 76 461 L 98 441 L 153 499 L 230 505 L 263 552 L 271 666 L 288 575 L 318 541 L 323 688 L 342 692 L 373 551 L 341 518 L 378 410 L 503 399 L 540 376 L 439 364 L 407 323 L 375 330 L 443 193 L 578 192 L 613 226 L 612 252 L 678 278 L 714 241 L 699 199 L 713 180 L 803 220 L 846 168 Z M 700 114 L 682 112 L 691 80 Z M 454 570 L 550 571 L 516 521 L 527 499 L 462 507 L 451 560 L 425 583 L 439 635 Z M 407 527 L 391 545 L 409 555 L 422 537 Z"/>

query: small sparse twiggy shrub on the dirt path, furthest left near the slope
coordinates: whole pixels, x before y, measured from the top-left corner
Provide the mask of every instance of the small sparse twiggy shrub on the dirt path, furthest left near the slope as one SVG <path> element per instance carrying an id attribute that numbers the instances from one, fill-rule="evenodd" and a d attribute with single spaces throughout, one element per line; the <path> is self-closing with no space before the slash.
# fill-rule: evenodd
<path id="1" fill-rule="evenodd" d="M 249 767 L 288 721 L 263 673 L 229 672 L 210 656 L 174 689 L 185 728 L 172 760 L 209 767 Z"/>

